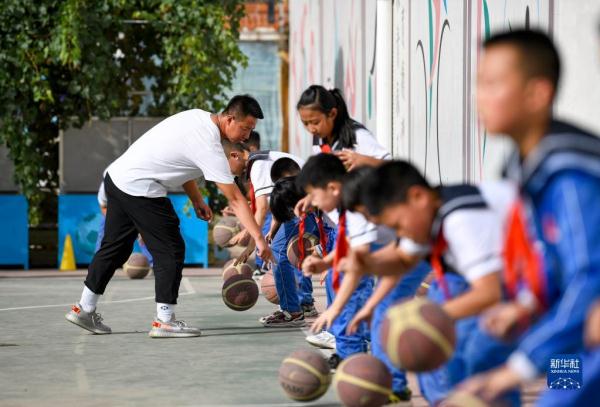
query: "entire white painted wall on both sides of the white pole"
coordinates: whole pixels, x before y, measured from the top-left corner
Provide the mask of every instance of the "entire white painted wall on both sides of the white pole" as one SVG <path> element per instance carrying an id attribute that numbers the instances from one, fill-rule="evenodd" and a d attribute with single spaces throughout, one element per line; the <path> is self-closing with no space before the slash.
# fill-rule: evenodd
<path id="1" fill-rule="evenodd" d="M 600 2 L 393 0 L 392 150 L 432 182 L 496 178 L 511 146 L 478 120 L 481 43 L 515 27 L 548 31 L 563 56 L 557 116 L 600 133 Z M 311 83 L 340 87 L 352 115 L 374 128 L 375 1 L 291 0 L 290 103 Z M 362 48 L 361 48 L 362 47 Z M 307 136 L 290 113 L 292 151 Z"/>

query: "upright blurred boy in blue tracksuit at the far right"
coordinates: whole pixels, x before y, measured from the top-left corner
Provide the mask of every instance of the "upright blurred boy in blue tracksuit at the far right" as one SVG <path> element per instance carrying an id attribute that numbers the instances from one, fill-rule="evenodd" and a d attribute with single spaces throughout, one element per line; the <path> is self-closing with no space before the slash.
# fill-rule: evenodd
<path id="1" fill-rule="evenodd" d="M 586 351 L 583 327 L 600 292 L 600 139 L 552 119 L 560 59 L 547 35 L 518 30 L 491 37 L 480 72 L 482 83 L 494 84 L 479 90 L 484 125 L 518 147 L 505 175 L 520 187 L 514 219 L 521 226 L 514 230 L 527 245 L 516 260 L 528 266 L 527 273 L 515 268 L 507 275 L 512 301 L 485 317 L 485 327 L 499 337 L 523 321 L 528 329 L 505 365 L 464 387 L 493 399 L 547 372 L 552 358 L 575 354 L 582 389 L 547 390 L 537 405 L 595 405 L 600 356 L 597 348 Z"/>

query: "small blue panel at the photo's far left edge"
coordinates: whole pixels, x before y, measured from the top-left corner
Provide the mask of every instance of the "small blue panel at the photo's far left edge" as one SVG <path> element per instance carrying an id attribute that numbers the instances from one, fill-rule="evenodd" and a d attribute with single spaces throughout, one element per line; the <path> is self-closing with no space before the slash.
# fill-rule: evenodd
<path id="1" fill-rule="evenodd" d="M 22 195 L 0 195 L 0 264 L 29 268 L 27 200 Z"/>

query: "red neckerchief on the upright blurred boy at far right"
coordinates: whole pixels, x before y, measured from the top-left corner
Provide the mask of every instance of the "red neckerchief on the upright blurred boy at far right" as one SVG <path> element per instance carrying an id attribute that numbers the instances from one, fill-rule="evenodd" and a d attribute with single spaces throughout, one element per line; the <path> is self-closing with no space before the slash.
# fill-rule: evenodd
<path id="1" fill-rule="evenodd" d="M 518 293 L 519 282 L 525 282 L 538 304 L 546 309 L 542 262 L 533 242 L 528 238 L 521 201 L 517 201 L 510 212 L 508 233 L 504 242 L 504 262 L 504 281 L 508 295 L 514 299 Z"/>

